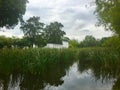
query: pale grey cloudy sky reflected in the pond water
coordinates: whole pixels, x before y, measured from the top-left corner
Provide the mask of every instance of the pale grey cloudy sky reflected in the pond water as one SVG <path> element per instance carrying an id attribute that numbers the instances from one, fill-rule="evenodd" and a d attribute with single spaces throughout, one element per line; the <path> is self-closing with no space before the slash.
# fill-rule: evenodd
<path id="1" fill-rule="evenodd" d="M 112 88 L 112 80 L 103 83 L 95 81 L 90 70 L 79 73 L 76 63 L 66 73 L 62 78 L 64 83 L 61 86 L 47 85 L 45 90 L 111 90 Z"/>

